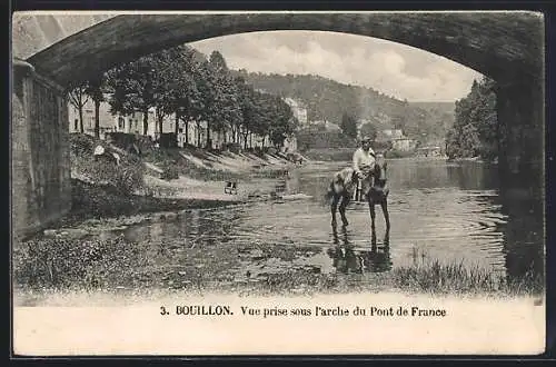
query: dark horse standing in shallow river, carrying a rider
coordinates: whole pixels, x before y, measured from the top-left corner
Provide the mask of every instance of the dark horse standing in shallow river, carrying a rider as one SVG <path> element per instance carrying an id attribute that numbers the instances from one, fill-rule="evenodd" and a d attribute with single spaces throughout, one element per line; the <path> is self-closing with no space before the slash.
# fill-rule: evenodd
<path id="1" fill-rule="evenodd" d="M 388 194 L 389 189 L 386 179 L 387 162 L 381 155 L 377 155 L 377 161 L 374 169 L 370 171 L 373 185 L 370 186 L 367 195 L 367 202 L 369 204 L 371 229 L 375 231 L 375 206 L 380 205 L 386 221 L 386 228 L 390 228 L 390 217 L 388 215 Z M 332 217 L 331 225 L 336 226 L 336 211 L 340 212 L 341 222 L 348 226 L 346 218 L 346 207 L 354 197 L 358 188 L 358 177 L 355 170 L 350 167 L 344 168 L 336 172 L 330 181 L 327 198 L 330 201 L 330 214 Z M 338 206 L 339 205 L 339 206 Z"/>

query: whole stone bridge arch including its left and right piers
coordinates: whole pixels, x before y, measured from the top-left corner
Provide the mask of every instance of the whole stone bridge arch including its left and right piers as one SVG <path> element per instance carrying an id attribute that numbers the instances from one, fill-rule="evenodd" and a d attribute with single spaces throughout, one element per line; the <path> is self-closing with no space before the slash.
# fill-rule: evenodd
<path id="1" fill-rule="evenodd" d="M 508 139 L 500 147 L 500 173 L 530 189 L 542 182 L 544 142 L 544 19 L 534 12 L 347 12 L 347 13 L 190 13 L 122 14 L 67 37 L 47 49 L 13 63 L 12 116 L 14 142 L 43 131 L 49 125 L 54 141 L 28 139 L 12 149 L 21 179 L 19 197 L 58 197 L 53 214 L 41 215 L 40 206 L 27 208 L 27 219 L 43 224 L 69 206 L 67 123 L 60 106 L 63 89 L 111 67 L 177 44 L 218 36 L 269 30 L 320 30 L 381 38 L 416 47 L 473 68 L 498 82 L 498 118 Z M 38 92 L 38 90 L 46 90 Z M 46 96 L 46 97 L 44 97 Z M 54 97 L 52 97 L 54 96 Z M 44 105 L 46 103 L 46 105 Z M 20 108 L 21 105 L 21 108 Z M 48 106 L 57 108 L 47 108 Z M 44 111 L 49 110 L 48 116 Z M 31 131 L 31 135 L 30 135 Z M 36 132 L 32 132 L 36 131 Z M 67 132 L 67 131 L 66 131 Z M 34 133 L 34 135 L 33 135 Z M 54 137 L 56 136 L 56 137 Z M 57 141 L 56 139 L 59 139 Z M 33 167 L 41 167 L 44 146 L 58 147 L 52 157 L 60 163 L 56 189 L 41 189 Z M 36 151 L 30 155 L 21 147 Z M 37 163 L 33 163 L 37 161 Z M 41 175 L 38 175 L 40 177 Z M 44 176 L 44 173 L 42 175 Z M 47 175 L 48 176 L 48 175 Z M 34 184 L 29 184 L 33 181 Z M 16 182 L 14 182 L 16 184 Z M 38 194 L 39 192 L 39 194 Z M 29 201 L 29 200 L 28 200 Z M 40 201 L 40 200 L 39 200 Z M 32 204 L 34 205 L 34 204 Z M 61 208 L 61 209 L 60 209 Z M 63 209 L 66 208 L 66 209 Z M 23 210 L 23 209 L 22 209 Z M 29 218 L 34 218 L 30 220 Z"/>

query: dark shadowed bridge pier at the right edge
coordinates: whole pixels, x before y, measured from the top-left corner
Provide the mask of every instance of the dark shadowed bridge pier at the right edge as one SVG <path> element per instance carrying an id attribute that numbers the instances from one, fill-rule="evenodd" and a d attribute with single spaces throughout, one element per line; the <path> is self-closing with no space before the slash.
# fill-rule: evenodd
<path id="1" fill-rule="evenodd" d="M 539 80 L 519 78 L 497 88 L 502 191 L 544 200 L 544 90 Z"/>

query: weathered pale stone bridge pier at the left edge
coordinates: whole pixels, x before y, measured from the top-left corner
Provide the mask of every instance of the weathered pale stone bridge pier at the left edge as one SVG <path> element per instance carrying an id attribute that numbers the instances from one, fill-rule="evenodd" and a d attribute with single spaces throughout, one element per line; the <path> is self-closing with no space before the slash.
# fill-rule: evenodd
<path id="1" fill-rule="evenodd" d="M 71 207 L 68 105 L 63 89 L 22 60 L 12 63 L 12 236 L 48 226 Z"/>

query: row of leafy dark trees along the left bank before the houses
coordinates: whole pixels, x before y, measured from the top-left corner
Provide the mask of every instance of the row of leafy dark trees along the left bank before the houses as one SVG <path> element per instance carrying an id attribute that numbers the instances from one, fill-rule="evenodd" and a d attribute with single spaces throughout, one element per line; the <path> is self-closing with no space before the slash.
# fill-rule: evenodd
<path id="1" fill-rule="evenodd" d="M 245 148 L 250 133 L 268 136 L 275 146 L 297 128 L 291 108 L 276 95 L 256 90 L 242 76 L 232 73 L 224 56 L 214 51 L 209 58 L 188 46 L 179 46 L 119 65 L 101 76 L 90 78 L 68 89 L 69 101 L 79 111 L 83 132 L 83 106 L 95 103 L 95 135 L 100 135 L 99 107 L 105 96 L 112 115 L 141 112 L 142 132 L 148 131 L 148 113 L 155 109 L 158 130 L 165 118 L 175 116 L 176 136 L 179 121 L 185 123 L 189 143 L 189 123 L 197 125 L 200 141 L 201 123 L 206 123 L 207 148 L 211 131 L 230 131 L 234 141 L 244 137 Z M 226 135 L 225 135 L 226 137 Z"/>

